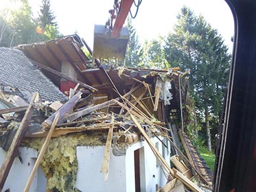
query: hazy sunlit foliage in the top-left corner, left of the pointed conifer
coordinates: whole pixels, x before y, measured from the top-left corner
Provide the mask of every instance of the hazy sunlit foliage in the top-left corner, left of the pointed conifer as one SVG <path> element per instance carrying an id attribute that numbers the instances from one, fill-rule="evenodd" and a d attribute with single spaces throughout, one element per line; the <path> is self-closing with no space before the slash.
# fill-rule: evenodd
<path id="1" fill-rule="evenodd" d="M 38 19 L 32 17 L 27 0 L 11 0 L 10 3 L 10 8 L 0 11 L 0 47 L 14 47 L 60 36 L 55 24 L 40 27 Z"/>

